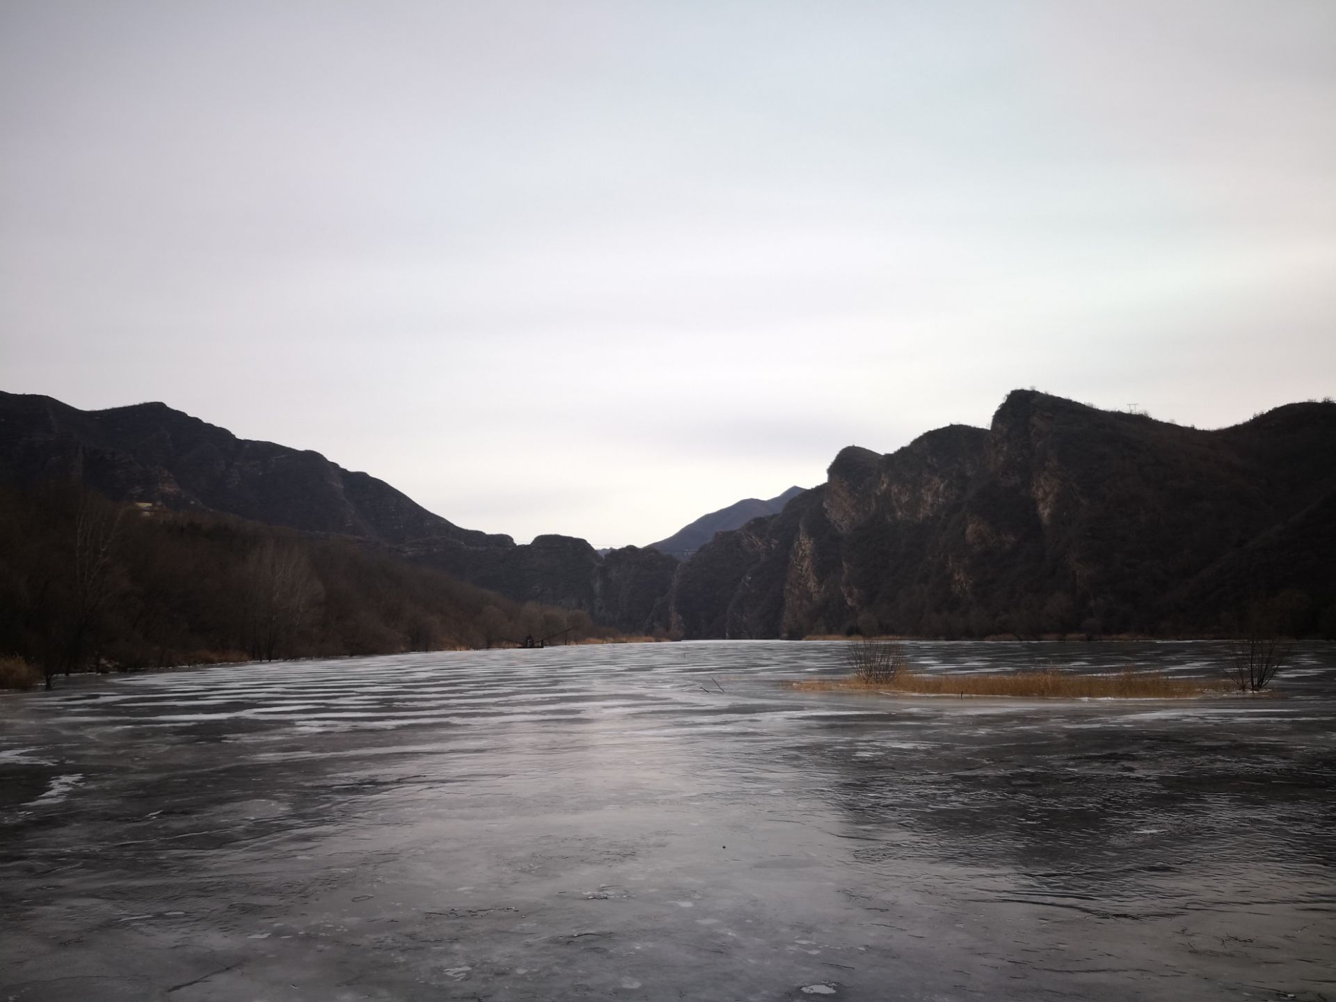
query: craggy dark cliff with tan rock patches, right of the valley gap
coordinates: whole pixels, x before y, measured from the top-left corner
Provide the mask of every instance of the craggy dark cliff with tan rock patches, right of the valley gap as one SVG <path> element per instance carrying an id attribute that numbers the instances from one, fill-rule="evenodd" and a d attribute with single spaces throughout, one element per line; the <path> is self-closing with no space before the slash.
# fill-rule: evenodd
<path id="1" fill-rule="evenodd" d="M 685 636 L 1205 632 L 1250 595 L 1336 617 L 1336 405 L 1217 432 L 1034 391 L 987 430 L 851 446 L 677 573 Z"/>

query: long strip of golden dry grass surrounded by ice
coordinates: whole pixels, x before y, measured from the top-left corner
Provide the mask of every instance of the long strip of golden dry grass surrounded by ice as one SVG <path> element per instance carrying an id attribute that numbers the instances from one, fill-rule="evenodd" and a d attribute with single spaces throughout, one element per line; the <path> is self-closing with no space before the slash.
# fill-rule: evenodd
<path id="1" fill-rule="evenodd" d="M 921 696 L 1021 696 L 1031 699 L 1182 699 L 1225 692 L 1228 681 L 1172 679 L 1164 672 L 1125 668 L 1117 675 L 1067 672 L 991 672 L 979 675 L 925 675 L 902 669 L 891 685 L 847 679 L 811 679 L 792 683 L 803 692 L 876 691 Z"/>

